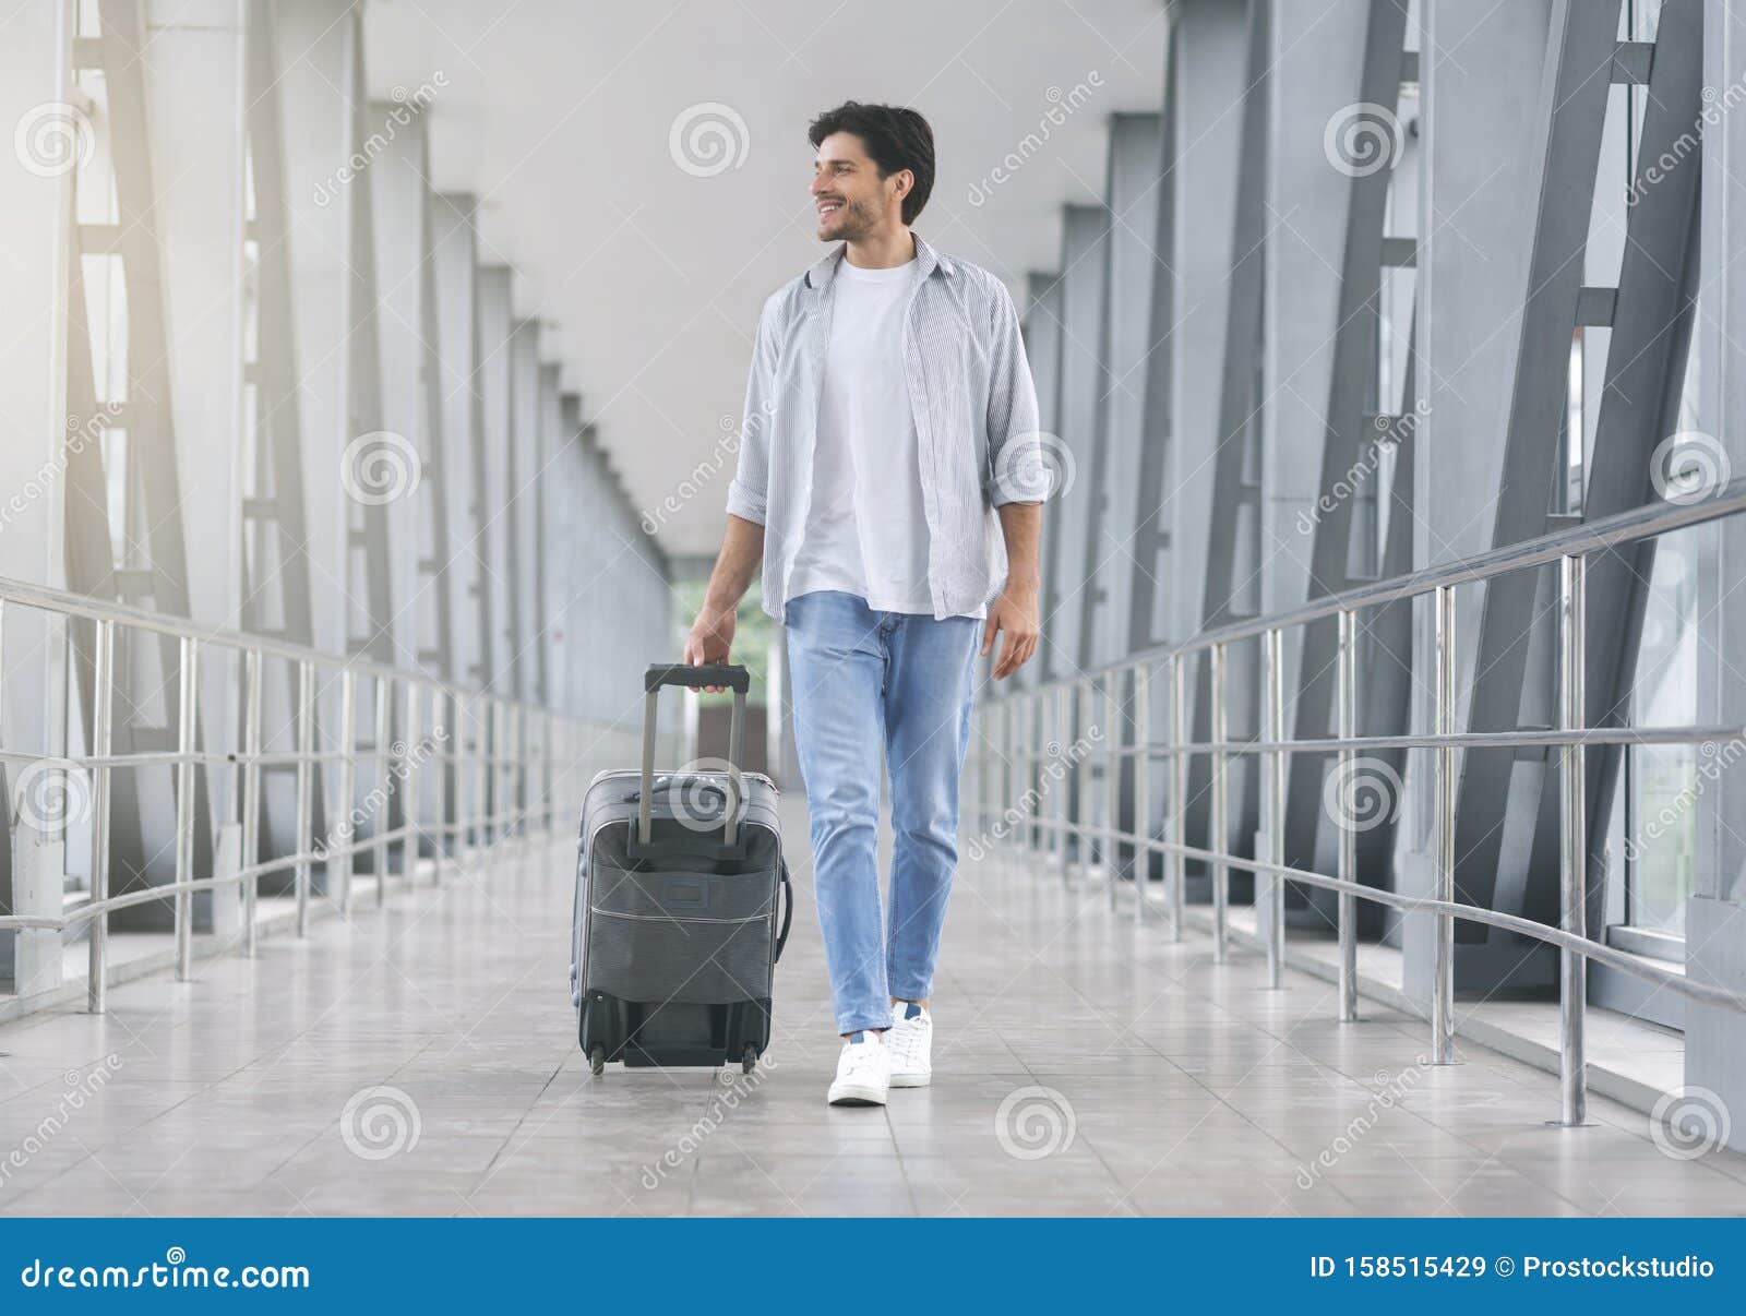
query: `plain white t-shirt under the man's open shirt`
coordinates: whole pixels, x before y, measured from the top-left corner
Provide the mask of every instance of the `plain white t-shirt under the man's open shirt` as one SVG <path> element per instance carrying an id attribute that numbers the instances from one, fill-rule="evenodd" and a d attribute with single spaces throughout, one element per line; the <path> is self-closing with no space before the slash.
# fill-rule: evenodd
<path id="1" fill-rule="evenodd" d="M 915 260 L 892 269 L 836 267 L 824 353 L 807 531 L 789 597 L 842 590 L 876 613 L 925 613 L 927 511 L 903 370 L 903 323 Z"/>

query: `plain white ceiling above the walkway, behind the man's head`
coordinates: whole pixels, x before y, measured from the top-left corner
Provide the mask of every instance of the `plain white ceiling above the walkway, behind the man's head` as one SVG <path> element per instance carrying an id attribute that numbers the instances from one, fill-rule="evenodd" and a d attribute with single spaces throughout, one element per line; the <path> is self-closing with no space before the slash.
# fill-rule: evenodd
<path id="1" fill-rule="evenodd" d="M 814 113 L 922 110 L 939 176 L 917 230 L 1016 297 L 1056 265 L 1062 202 L 1098 195 L 1107 115 L 1158 108 L 1166 35 L 1163 0 L 368 0 L 365 16 L 372 96 L 445 77 L 433 182 L 482 199 L 482 258 L 515 267 L 517 312 L 548 323 L 546 360 L 644 510 L 723 461 L 758 309 L 822 250 Z M 669 148 L 700 103 L 746 126 L 739 164 L 707 176 Z M 1048 140 L 973 204 L 1027 134 Z M 656 513 L 669 552 L 716 548 L 728 475 Z"/>

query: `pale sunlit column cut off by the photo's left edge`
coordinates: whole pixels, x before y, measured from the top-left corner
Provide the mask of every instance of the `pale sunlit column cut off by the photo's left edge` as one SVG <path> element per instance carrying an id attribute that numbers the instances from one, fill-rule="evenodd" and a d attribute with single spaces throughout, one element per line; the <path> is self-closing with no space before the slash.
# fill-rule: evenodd
<path id="1" fill-rule="evenodd" d="M 0 157 L 0 572 L 65 588 L 66 279 L 72 255 L 73 171 L 94 152 L 96 127 L 72 89 L 72 3 L 37 3 L 12 14 L 0 42 L 0 122 L 37 124 L 24 157 Z M 89 442 L 89 440 L 87 440 Z M 61 698 L 65 651 L 49 627 L 9 609 L 0 648 L 0 744 L 47 749 L 51 710 Z M 10 801 L 19 768 L 0 768 Z M 59 915 L 61 838 L 0 820 L 0 902 L 19 915 Z M 0 984 L 19 995 L 61 979 L 58 932 L 0 934 Z"/>

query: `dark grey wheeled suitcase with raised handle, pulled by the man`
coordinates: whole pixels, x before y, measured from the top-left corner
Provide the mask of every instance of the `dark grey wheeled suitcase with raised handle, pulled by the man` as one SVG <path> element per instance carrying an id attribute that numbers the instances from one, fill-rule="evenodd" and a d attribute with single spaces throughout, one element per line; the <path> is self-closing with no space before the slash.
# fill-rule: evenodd
<path id="1" fill-rule="evenodd" d="M 588 784 L 569 983 L 595 1073 L 606 1061 L 749 1072 L 770 1042 L 772 977 L 794 902 L 775 782 L 739 770 L 749 684 L 739 665 L 650 667 L 643 768 Z M 655 771 L 662 686 L 733 691 L 726 771 Z"/>

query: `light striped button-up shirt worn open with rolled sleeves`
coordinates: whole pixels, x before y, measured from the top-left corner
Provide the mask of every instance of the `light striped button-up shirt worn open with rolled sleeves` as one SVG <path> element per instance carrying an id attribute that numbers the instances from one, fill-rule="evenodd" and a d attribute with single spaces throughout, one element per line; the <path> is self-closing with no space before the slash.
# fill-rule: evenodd
<path id="1" fill-rule="evenodd" d="M 838 246 L 765 302 L 746 386 L 728 511 L 765 527 L 763 609 L 777 621 L 807 529 L 831 283 L 842 258 Z M 1048 494 L 1037 389 L 1006 284 L 917 237 L 903 363 L 934 616 L 974 614 L 1006 586 L 1006 541 L 993 510 Z"/>

